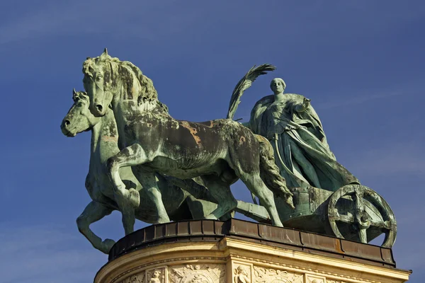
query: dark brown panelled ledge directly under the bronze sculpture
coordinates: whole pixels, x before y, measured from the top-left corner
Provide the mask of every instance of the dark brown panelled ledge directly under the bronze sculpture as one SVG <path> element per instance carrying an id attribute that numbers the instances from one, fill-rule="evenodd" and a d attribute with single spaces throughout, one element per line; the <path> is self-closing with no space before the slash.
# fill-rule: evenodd
<path id="1" fill-rule="evenodd" d="M 108 260 L 111 262 L 121 255 L 162 243 L 218 242 L 222 238 L 237 238 L 266 246 L 324 255 L 329 258 L 395 268 L 395 260 L 390 248 L 239 219 L 189 220 L 147 226 L 115 243 Z"/>

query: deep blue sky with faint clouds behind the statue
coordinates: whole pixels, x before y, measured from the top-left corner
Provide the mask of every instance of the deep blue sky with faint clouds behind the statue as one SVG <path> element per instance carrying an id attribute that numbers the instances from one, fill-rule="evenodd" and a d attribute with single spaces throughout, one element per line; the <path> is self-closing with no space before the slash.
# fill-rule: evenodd
<path id="1" fill-rule="evenodd" d="M 136 64 L 181 120 L 225 117 L 254 64 L 278 69 L 242 97 L 244 121 L 269 83 L 310 98 L 331 150 L 387 200 L 397 266 L 425 276 L 425 4 L 422 1 L 2 1 L 0 274 L 10 282 L 91 282 L 107 257 L 77 231 L 90 134 L 60 122 L 101 54 Z M 249 200 L 243 185 L 234 194 Z M 137 223 L 137 228 L 144 226 Z M 113 213 L 93 229 L 123 236 Z"/>

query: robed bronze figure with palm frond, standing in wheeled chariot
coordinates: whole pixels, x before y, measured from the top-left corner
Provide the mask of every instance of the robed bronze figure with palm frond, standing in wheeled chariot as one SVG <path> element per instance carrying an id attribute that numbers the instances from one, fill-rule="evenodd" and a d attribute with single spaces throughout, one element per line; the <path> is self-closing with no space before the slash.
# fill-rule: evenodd
<path id="1" fill-rule="evenodd" d="M 256 71 L 250 72 L 235 88 L 227 117 L 254 81 Z M 382 246 L 391 247 L 397 223 L 390 206 L 336 161 L 310 99 L 284 93 L 285 87 L 283 79 L 273 79 L 273 95 L 261 98 L 243 123 L 271 141 L 280 175 L 294 194 L 295 210 L 276 200 L 280 219 L 285 226 L 362 243 L 385 233 Z"/>

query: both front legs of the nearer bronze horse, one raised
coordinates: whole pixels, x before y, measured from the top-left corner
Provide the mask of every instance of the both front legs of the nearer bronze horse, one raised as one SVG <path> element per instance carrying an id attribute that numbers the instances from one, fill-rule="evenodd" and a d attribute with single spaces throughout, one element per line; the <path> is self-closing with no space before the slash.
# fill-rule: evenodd
<path id="1" fill-rule="evenodd" d="M 126 147 L 120 153 L 108 159 L 108 168 L 109 168 L 109 177 L 115 187 L 115 195 L 117 195 L 117 200 L 127 199 L 130 200 L 130 203 L 138 207 L 140 205 L 140 196 L 137 190 L 130 188 L 125 190 L 125 185 L 120 178 L 119 169 L 125 166 L 137 166 L 143 163 L 147 163 L 149 158 L 145 154 L 145 151 L 142 149 L 140 144 L 132 144 L 131 146 Z M 139 180 L 142 187 L 147 190 L 147 195 L 154 202 L 154 205 L 158 212 L 158 222 L 166 223 L 169 222 L 169 216 L 166 213 L 164 203 L 162 202 L 161 191 L 158 188 L 157 180 L 154 173 L 148 173 L 141 171 L 139 174 L 136 174 L 137 180 Z M 134 194 L 134 195 L 132 195 Z M 137 202 L 135 197 L 137 194 Z M 120 203 L 118 203 L 120 205 Z"/>

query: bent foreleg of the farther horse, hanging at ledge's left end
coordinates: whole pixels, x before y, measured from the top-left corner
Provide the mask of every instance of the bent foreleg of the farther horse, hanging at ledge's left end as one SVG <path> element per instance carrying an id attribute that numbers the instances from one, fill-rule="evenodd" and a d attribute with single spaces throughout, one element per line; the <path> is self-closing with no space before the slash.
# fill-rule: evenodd
<path id="1" fill-rule="evenodd" d="M 111 214 L 112 211 L 113 209 L 104 206 L 100 202 L 92 201 L 87 204 L 83 213 L 77 218 L 77 226 L 80 233 L 89 240 L 94 248 L 106 254 L 109 253 L 115 241 L 108 238 L 102 241 L 101 238 L 91 231 L 90 224 L 101 220 L 104 216 Z"/>

